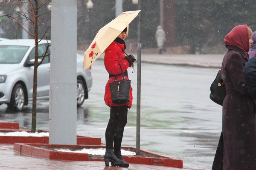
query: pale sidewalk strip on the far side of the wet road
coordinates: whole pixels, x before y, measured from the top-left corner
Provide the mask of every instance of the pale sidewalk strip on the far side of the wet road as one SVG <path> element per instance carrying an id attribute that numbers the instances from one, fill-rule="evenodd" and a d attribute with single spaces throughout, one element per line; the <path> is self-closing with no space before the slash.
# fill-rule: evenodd
<path id="1" fill-rule="evenodd" d="M 78 50 L 77 52 L 80 55 L 84 55 L 85 51 Z M 137 54 L 133 55 L 137 59 Z M 201 68 L 221 68 L 224 55 L 225 54 L 141 54 L 141 62 Z M 100 55 L 98 59 L 104 59 L 104 54 Z"/>

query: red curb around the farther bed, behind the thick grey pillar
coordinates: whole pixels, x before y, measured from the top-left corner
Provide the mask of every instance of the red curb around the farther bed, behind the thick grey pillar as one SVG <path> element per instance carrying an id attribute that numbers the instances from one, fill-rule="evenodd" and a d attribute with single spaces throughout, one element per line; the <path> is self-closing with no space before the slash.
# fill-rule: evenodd
<path id="1" fill-rule="evenodd" d="M 3 130 L 1 129 L 0 132 L 17 132 L 17 131 L 27 131 L 29 130 Z M 47 132 L 47 131 L 44 131 Z M 39 143 L 39 144 L 48 144 L 49 137 L 35 137 L 35 136 L 0 136 L 0 143 L 3 144 L 14 144 L 14 143 Z M 88 144 L 88 145 L 100 145 L 101 138 L 93 138 L 88 136 L 77 136 L 76 144 Z"/>

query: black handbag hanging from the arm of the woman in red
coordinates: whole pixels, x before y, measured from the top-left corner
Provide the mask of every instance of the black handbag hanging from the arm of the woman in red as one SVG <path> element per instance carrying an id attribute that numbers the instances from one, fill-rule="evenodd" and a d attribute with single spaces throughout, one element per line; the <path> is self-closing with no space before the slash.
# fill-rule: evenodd
<path id="1" fill-rule="evenodd" d="M 122 67 L 120 65 L 121 71 Z M 131 80 L 125 79 L 125 75 L 122 71 L 122 80 L 117 81 L 117 75 L 115 76 L 114 82 L 109 83 L 112 103 L 121 105 L 128 103 L 129 92 L 130 92 Z"/>

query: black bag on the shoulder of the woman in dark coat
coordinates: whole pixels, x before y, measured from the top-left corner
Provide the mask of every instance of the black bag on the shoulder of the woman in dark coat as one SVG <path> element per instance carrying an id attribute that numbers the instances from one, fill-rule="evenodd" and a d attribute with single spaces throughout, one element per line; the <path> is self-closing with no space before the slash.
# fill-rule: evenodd
<path id="1" fill-rule="evenodd" d="M 221 77 L 221 69 L 218 71 L 216 78 L 212 82 L 210 91 L 211 91 L 210 99 L 213 102 L 222 106 L 223 100 L 226 96 L 226 85 L 224 83 L 224 80 Z"/>

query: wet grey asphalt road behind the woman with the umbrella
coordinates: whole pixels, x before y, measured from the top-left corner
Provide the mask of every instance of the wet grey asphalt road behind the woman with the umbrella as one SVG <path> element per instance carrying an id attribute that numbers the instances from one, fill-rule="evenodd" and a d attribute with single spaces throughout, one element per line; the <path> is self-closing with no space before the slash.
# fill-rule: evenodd
<path id="1" fill-rule="evenodd" d="M 123 146 L 136 147 L 137 64 L 128 69 L 133 87 L 133 106 L 128 111 Z M 221 106 L 209 99 L 209 87 L 217 68 L 142 64 L 140 149 L 183 159 L 183 166 L 207 169 L 212 166 L 221 132 Z M 92 65 L 93 87 L 89 99 L 77 108 L 77 134 L 102 138 L 110 109 L 104 92 L 108 74 L 103 60 Z M 49 101 L 38 101 L 37 129 L 49 130 Z M 32 105 L 21 113 L 8 113 L 0 105 L 0 119 L 31 127 Z"/>

